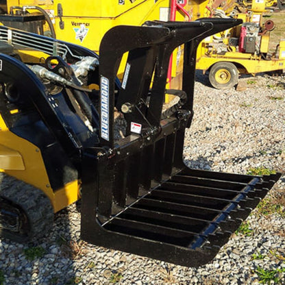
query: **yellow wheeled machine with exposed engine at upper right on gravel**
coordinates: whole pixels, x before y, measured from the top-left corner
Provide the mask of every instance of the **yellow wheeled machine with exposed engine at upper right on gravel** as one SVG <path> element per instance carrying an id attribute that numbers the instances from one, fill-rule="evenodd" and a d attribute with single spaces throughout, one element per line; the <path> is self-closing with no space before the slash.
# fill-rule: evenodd
<path id="1" fill-rule="evenodd" d="M 280 40 L 273 54 L 269 53 L 271 20 L 263 23 L 265 2 L 253 1 L 247 13 L 236 14 L 243 25 L 210 36 L 197 51 L 196 69 L 209 71 L 212 86 L 232 88 L 239 73 L 256 74 L 285 69 L 285 40 Z"/>

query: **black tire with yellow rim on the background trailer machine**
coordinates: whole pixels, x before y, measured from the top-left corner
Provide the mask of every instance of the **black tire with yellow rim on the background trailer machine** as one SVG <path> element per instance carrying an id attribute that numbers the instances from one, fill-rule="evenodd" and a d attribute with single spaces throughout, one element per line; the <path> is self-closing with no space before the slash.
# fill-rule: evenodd
<path id="1" fill-rule="evenodd" d="M 238 69 L 232 62 L 216 62 L 209 72 L 210 84 L 216 89 L 229 89 L 238 83 Z"/>

